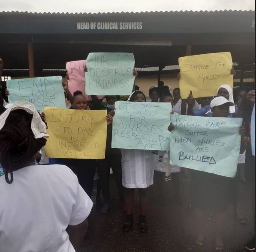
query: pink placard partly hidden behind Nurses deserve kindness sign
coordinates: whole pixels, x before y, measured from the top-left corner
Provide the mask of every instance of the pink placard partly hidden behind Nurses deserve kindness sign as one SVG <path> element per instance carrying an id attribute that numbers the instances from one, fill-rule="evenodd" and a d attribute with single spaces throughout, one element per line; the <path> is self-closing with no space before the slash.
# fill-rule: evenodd
<path id="1" fill-rule="evenodd" d="M 66 62 L 67 75 L 69 76 L 68 84 L 69 91 L 73 94 L 75 91 L 81 91 L 87 101 L 91 101 L 90 95 L 85 94 L 85 75 L 84 75 L 84 66 L 86 60 L 76 60 Z M 99 100 L 104 99 L 104 96 L 97 96 Z"/>

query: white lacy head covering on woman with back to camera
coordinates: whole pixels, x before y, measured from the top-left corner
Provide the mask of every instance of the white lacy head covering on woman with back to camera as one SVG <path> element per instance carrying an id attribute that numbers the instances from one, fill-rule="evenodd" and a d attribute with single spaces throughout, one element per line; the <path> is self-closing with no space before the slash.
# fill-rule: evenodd
<path id="1" fill-rule="evenodd" d="M 48 138 L 49 135 L 46 134 L 46 125 L 42 121 L 38 111 L 36 110 L 35 106 L 32 103 L 28 103 L 25 101 L 17 101 L 13 103 L 3 114 L 0 115 L 0 130 L 3 129 L 5 125 L 6 119 L 9 116 L 11 111 L 22 109 L 29 114 L 32 114 L 32 121 L 31 121 L 31 129 L 35 136 L 35 138 Z"/>

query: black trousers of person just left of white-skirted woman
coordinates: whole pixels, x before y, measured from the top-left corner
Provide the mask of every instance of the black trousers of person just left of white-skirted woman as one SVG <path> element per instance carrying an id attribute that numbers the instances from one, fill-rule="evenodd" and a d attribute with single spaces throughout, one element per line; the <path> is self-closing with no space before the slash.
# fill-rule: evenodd
<path id="1" fill-rule="evenodd" d="M 102 190 L 103 201 L 105 204 L 110 204 L 110 190 L 109 190 L 109 173 L 110 167 L 113 170 L 117 190 L 119 193 L 120 201 L 123 202 L 123 185 L 122 185 L 122 155 L 113 154 L 105 155 L 105 159 L 99 159 L 98 174 L 99 182 Z"/>

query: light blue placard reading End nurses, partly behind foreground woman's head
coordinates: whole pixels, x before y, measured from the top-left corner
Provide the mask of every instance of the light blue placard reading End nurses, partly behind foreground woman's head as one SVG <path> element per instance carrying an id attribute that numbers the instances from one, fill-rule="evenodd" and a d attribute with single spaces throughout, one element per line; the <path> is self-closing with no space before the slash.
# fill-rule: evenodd
<path id="1" fill-rule="evenodd" d="M 33 103 L 39 113 L 45 107 L 66 108 L 61 82 L 61 76 L 8 80 L 9 103 L 18 100 Z"/>

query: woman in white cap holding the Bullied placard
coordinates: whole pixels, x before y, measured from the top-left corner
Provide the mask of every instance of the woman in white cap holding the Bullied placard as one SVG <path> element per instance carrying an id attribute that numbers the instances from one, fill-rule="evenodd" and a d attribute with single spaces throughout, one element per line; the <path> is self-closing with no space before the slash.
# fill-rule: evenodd
<path id="1" fill-rule="evenodd" d="M 211 101 L 211 114 L 213 117 L 229 117 L 230 106 L 234 106 L 234 103 L 229 102 L 225 97 L 216 97 Z M 172 131 L 173 129 L 173 125 L 171 124 L 169 130 Z M 241 152 L 244 152 L 245 149 L 243 138 L 245 134 L 245 127 L 239 127 Z M 215 249 L 217 251 L 223 250 L 224 245 L 221 230 L 229 204 L 230 178 L 193 170 L 191 183 L 193 191 L 192 201 L 199 226 L 196 243 L 199 246 L 203 245 L 207 213 L 208 211 L 212 211 L 215 216 Z"/>

